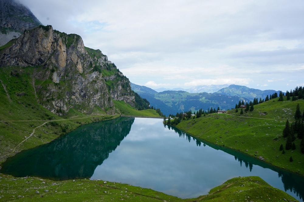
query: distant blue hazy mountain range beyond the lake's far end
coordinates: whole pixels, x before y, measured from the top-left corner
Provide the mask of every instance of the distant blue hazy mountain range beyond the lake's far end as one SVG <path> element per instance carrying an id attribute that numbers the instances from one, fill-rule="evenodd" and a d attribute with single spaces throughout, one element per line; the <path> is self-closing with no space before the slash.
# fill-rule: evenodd
<path id="1" fill-rule="evenodd" d="M 205 89 L 217 89 L 220 85 L 208 86 Z M 162 92 L 157 92 L 156 89 L 153 90 L 146 86 L 140 86 L 131 83 L 131 88 L 133 91 L 138 93 L 142 98 L 146 98 L 150 102 L 150 106 L 155 108 L 160 108 L 163 114 L 176 114 L 177 112 L 198 111 L 200 108 L 203 110 L 210 110 L 211 108 L 220 108 L 222 110 L 227 110 L 235 107 L 235 104 L 239 100 L 244 100 L 245 102 L 253 101 L 254 98 L 265 99 L 266 96 L 272 95 L 274 93 L 279 93 L 275 90 L 265 90 L 261 91 L 254 88 L 248 88 L 246 86 L 240 85 L 230 85 L 221 89 L 217 89 L 215 92 L 199 92 L 190 93 L 182 90 L 166 90 Z M 194 89 L 194 88 L 193 88 Z M 204 89 L 198 87 L 197 89 Z"/>

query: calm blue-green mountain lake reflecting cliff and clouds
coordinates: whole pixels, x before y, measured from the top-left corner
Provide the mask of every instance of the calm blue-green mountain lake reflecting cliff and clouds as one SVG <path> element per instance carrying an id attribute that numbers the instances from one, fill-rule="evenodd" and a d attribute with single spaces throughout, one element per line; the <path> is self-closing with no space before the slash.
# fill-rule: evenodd
<path id="1" fill-rule="evenodd" d="M 16 177 L 121 182 L 180 198 L 208 194 L 233 177 L 260 176 L 302 201 L 304 177 L 201 142 L 162 121 L 121 117 L 84 125 L 16 154 L 0 171 Z"/>

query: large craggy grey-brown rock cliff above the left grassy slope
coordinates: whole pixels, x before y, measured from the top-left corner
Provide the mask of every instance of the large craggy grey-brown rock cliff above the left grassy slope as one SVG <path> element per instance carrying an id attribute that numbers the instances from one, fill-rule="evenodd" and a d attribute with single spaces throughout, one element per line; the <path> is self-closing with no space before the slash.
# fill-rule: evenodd
<path id="1" fill-rule="evenodd" d="M 10 43 L 0 50 L 0 67 L 35 67 L 37 100 L 50 111 L 91 113 L 98 107 L 113 114 L 112 99 L 135 106 L 129 79 L 100 50 L 86 48 L 79 35 L 40 25 Z"/>

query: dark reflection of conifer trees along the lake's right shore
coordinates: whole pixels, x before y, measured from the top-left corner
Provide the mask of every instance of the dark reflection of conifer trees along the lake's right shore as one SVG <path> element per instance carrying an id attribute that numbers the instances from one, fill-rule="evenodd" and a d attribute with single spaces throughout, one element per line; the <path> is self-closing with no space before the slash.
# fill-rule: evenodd
<path id="1" fill-rule="evenodd" d="M 174 130 L 179 135 L 179 137 L 185 138 L 190 142 L 192 136 L 190 136 L 189 134 L 186 134 L 185 132 L 180 131 L 179 129 L 177 129 L 175 127 L 171 127 L 171 126 L 169 126 L 168 129 Z M 240 167 L 242 167 L 242 165 L 244 163 L 246 168 L 249 167 L 250 172 L 253 169 L 253 165 L 258 165 L 263 168 L 269 168 L 269 169 L 277 172 L 278 177 L 280 177 L 282 179 L 285 192 L 290 191 L 291 193 L 296 194 L 297 197 L 299 197 L 300 199 L 302 199 L 304 201 L 304 189 L 303 189 L 304 177 L 303 176 L 300 176 L 298 174 L 294 174 L 292 172 L 288 172 L 283 169 L 271 166 L 270 164 L 267 164 L 259 159 L 253 158 L 247 154 L 243 154 L 243 153 L 237 152 L 235 150 L 232 150 L 232 149 L 229 149 L 229 148 L 226 148 L 223 146 L 219 146 L 219 145 L 215 145 L 215 144 L 212 144 L 209 142 L 198 140 L 195 137 L 192 137 L 192 138 L 197 146 L 201 146 L 201 142 L 202 142 L 203 146 L 208 145 L 209 147 L 212 147 L 216 150 L 222 150 L 228 154 L 233 155 L 235 160 L 240 162 Z"/>

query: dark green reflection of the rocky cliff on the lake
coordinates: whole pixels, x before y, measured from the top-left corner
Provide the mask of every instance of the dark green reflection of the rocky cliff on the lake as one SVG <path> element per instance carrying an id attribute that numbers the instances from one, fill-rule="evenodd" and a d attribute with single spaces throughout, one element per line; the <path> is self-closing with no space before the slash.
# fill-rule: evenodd
<path id="1" fill-rule="evenodd" d="M 8 158 L 1 172 L 53 180 L 90 178 L 96 166 L 129 134 L 134 119 L 122 117 L 80 126 L 48 144 Z"/>

